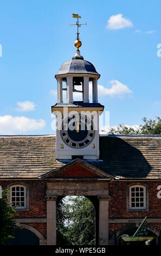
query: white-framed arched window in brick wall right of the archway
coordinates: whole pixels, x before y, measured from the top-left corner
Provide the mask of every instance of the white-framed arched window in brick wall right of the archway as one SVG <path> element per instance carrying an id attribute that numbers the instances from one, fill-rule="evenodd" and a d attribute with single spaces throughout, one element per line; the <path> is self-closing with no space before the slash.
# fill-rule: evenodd
<path id="1" fill-rule="evenodd" d="M 146 209 L 146 187 L 143 185 L 133 185 L 129 187 L 129 209 Z"/>

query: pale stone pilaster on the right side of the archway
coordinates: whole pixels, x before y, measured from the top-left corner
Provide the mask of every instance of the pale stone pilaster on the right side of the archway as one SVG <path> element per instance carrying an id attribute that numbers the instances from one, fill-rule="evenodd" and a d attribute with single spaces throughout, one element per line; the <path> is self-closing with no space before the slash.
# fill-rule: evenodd
<path id="1" fill-rule="evenodd" d="M 108 245 L 108 216 L 110 196 L 99 198 L 99 245 Z"/>

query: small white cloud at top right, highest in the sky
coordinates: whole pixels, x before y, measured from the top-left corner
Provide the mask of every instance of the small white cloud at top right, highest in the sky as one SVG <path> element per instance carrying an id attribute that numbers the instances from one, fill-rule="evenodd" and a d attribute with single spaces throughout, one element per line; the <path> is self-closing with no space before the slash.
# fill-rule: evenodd
<path id="1" fill-rule="evenodd" d="M 110 16 L 110 19 L 107 21 L 107 28 L 109 29 L 121 29 L 133 27 L 131 20 L 124 18 L 123 14 L 116 14 Z"/>

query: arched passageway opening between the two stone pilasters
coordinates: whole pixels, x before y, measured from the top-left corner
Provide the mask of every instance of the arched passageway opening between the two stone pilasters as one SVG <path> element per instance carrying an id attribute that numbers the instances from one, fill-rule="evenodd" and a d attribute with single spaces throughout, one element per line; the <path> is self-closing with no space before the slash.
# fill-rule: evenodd
<path id="1" fill-rule="evenodd" d="M 56 205 L 57 245 L 98 245 L 98 197 L 59 196 L 57 197 Z M 71 211 L 71 209 L 73 211 L 72 215 L 69 214 L 69 211 Z M 70 223 L 68 222 L 69 220 Z"/>

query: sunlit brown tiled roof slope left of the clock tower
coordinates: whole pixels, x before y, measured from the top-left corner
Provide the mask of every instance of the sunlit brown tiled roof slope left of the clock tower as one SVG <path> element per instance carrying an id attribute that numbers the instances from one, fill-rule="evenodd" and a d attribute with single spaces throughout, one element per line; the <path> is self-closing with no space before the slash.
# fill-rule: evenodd
<path id="1" fill-rule="evenodd" d="M 0 136 L 0 178 L 37 178 L 62 166 L 55 144 L 52 135 Z"/>

